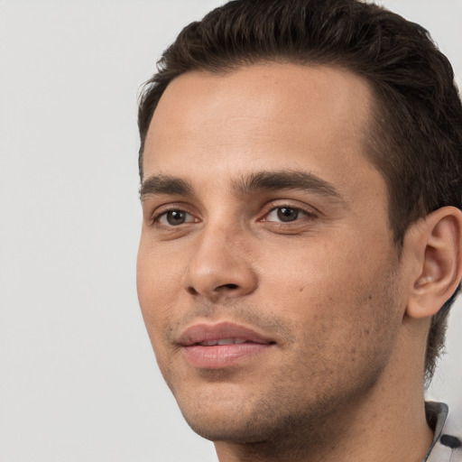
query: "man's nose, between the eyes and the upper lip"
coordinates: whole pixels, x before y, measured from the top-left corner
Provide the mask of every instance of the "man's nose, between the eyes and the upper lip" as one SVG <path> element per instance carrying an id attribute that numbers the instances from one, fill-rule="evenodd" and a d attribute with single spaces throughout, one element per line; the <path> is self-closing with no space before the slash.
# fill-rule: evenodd
<path id="1" fill-rule="evenodd" d="M 242 297 L 256 289 L 252 251 L 242 234 L 226 226 L 209 226 L 202 231 L 185 274 L 189 294 L 217 301 Z"/>

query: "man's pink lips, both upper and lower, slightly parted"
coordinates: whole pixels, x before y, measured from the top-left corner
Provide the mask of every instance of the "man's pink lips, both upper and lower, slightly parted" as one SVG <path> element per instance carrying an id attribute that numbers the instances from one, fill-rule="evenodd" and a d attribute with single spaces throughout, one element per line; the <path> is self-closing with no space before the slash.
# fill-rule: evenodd
<path id="1" fill-rule="evenodd" d="M 201 345 L 232 338 L 238 339 L 239 343 Z M 220 369 L 259 356 L 276 342 L 252 328 L 232 322 L 220 322 L 191 326 L 180 335 L 178 343 L 190 365 L 204 369 Z"/>

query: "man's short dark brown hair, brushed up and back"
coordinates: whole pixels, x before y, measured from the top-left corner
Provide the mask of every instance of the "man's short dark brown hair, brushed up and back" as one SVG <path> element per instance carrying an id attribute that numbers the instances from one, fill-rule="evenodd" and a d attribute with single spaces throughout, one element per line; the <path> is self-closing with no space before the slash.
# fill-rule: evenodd
<path id="1" fill-rule="evenodd" d="M 342 67 L 372 86 L 367 150 L 387 183 L 396 245 L 418 218 L 443 206 L 461 208 L 462 106 L 451 65 L 420 25 L 358 0 L 236 0 L 186 26 L 140 97 L 142 180 L 144 140 L 171 80 L 189 70 L 226 73 L 261 61 Z M 431 321 L 429 380 L 455 297 Z"/>

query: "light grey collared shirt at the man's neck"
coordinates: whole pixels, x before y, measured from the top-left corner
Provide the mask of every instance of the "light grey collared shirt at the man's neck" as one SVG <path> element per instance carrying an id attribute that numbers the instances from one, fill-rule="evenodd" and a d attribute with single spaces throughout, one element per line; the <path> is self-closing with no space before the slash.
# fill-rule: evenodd
<path id="1" fill-rule="evenodd" d="M 425 410 L 435 436 L 423 462 L 462 462 L 462 414 L 444 402 L 426 402 Z"/>

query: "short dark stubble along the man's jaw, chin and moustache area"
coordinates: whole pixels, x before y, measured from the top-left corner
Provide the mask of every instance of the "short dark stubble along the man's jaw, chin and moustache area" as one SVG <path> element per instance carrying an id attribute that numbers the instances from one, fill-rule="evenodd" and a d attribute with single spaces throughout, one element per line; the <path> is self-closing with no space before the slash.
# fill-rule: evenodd
<path id="1" fill-rule="evenodd" d="M 395 275 L 389 273 L 386 279 L 393 277 Z M 357 338 L 352 333 L 351 345 L 357 347 L 348 350 L 342 363 L 331 364 L 326 360 L 322 355 L 323 345 L 319 339 L 313 338 L 312 332 L 303 339 L 303 350 L 309 352 L 308 357 L 300 358 L 300 367 L 310 371 L 303 377 L 306 386 L 293 387 L 293 383 L 300 383 L 300 374 L 293 364 L 282 365 L 273 383 L 269 386 L 263 383 L 262 386 L 255 381 L 250 400 L 234 401 L 232 415 L 225 410 L 226 415 L 209 420 L 207 412 L 201 409 L 207 403 L 195 399 L 197 391 L 189 390 L 188 397 L 182 400 L 181 393 L 176 393 L 173 383 L 171 390 L 185 420 L 192 430 L 206 439 L 245 444 L 260 454 L 266 451 L 273 456 L 276 451 L 295 454 L 306 448 L 322 446 L 326 439 L 331 439 L 332 422 L 339 421 L 338 416 L 347 416 L 350 408 L 365 400 L 383 372 L 393 348 L 393 335 L 390 333 L 393 329 L 384 329 L 383 326 L 399 322 L 393 318 L 393 310 L 383 308 L 396 303 L 392 295 L 393 283 L 385 281 L 383 289 L 375 291 L 376 300 L 367 297 L 370 303 L 368 310 L 380 310 L 381 316 L 376 316 L 374 322 L 364 326 L 364 331 L 368 333 L 365 335 L 367 345 L 357 346 Z M 297 340 L 291 338 L 294 330 L 285 319 L 268 317 L 239 303 L 229 309 L 233 310 L 236 321 L 247 322 L 270 332 L 273 329 L 273 332 L 290 339 L 289 349 L 297 347 Z M 212 305 L 201 307 L 200 314 L 211 316 L 214 310 Z M 198 315 L 198 312 L 191 313 L 190 318 Z M 204 371 L 202 378 L 208 381 L 208 386 L 213 387 L 214 383 L 232 380 L 233 371 Z M 262 377 L 263 382 L 265 378 Z M 224 397 L 225 400 L 227 398 Z"/>

